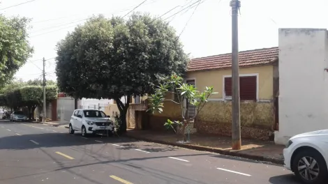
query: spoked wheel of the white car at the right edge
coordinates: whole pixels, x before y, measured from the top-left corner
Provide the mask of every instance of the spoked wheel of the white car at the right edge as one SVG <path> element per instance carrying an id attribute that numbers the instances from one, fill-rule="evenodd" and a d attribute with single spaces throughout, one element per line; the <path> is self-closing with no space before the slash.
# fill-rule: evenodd
<path id="1" fill-rule="evenodd" d="M 303 183 L 319 184 L 327 179 L 327 164 L 318 151 L 300 151 L 292 160 L 292 167 L 297 178 Z"/>

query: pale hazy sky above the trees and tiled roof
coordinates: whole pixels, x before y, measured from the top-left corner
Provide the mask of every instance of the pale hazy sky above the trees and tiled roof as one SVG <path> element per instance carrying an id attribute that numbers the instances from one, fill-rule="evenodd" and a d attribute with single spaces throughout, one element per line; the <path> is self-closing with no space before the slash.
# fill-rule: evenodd
<path id="1" fill-rule="evenodd" d="M 0 12 L 6 16 L 31 18 L 29 41 L 34 47 L 33 57 L 16 73 L 17 79 L 40 78 L 42 59 L 47 79 L 56 79 L 56 44 L 83 24 L 91 15 L 124 16 L 144 0 L 0 0 Z M 28 3 L 24 3 L 31 1 Z M 154 16 L 170 17 L 186 3 L 197 0 L 147 0 L 135 11 Z M 200 6 L 188 8 L 170 17 L 170 25 L 192 58 L 231 52 L 230 0 L 202 0 Z M 278 28 L 328 27 L 327 0 L 240 0 L 239 50 L 278 46 Z M 14 6 L 20 3 L 20 6 Z M 14 6 L 12 8 L 7 8 Z M 195 10 L 195 11 L 194 11 Z"/>

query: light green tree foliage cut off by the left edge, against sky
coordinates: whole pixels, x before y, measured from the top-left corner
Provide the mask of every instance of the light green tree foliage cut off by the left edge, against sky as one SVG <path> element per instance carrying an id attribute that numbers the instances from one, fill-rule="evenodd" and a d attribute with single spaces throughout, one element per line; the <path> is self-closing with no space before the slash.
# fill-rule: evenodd
<path id="1" fill-rule="evenodd" d="M 15 72 L 31 57 L 27 28 L 29 19 L 0 15 L 0 86 L 8 84 Z"/>

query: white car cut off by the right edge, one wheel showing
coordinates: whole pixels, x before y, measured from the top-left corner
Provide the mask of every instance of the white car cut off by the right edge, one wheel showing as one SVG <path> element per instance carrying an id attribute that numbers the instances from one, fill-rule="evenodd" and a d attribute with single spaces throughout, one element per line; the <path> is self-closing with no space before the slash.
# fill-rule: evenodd
<path id="1" fill-rule="evenodd" d="M 328 130 L 295 135 L 283 149 L 284 167 L 303 183 L 327 183 Z"/>

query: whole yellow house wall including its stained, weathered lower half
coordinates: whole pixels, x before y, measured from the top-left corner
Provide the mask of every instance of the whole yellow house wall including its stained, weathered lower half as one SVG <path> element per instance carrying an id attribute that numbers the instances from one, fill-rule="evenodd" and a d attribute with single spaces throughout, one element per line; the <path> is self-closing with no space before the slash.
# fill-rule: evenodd
<path id="1" fill-rule="evenodd" d="M 214 86 L 218 94 L 211 95 L 195 121 L 197 132 L 214 135 L 231 135 L 232 103 L 223 97 L 223 76 L 231 75 L 231 70 L 207 70 L 188 72 L 187 79 L 195 79 L 195 86 L 203 91 L 205 86 Z M 268 140 L 274 125 L 273 107 L 273 66 L 240 68 L 241 75 L 258 75 L 258 102 L 241 101 L 241 136 L 244 138 Z M 171 120 L 181 120 L 181 107 L 165 101 L 163 112 L 149 117 L 151 129 L 165 130 L 163 124 Z"/>

